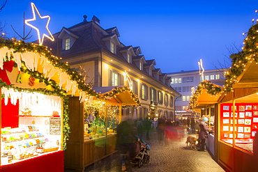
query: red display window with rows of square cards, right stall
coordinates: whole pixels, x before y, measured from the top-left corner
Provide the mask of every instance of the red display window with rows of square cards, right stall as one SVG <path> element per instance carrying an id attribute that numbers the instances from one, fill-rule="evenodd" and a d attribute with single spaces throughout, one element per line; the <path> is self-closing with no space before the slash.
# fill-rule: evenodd
<path id="1" fill-rule="evenodd" d="M 252 141 L 258 131 L 258 103 L 236 103 L 234 107 L 220 104 L 220 109 L 221 141 L 252 153 Z"/>

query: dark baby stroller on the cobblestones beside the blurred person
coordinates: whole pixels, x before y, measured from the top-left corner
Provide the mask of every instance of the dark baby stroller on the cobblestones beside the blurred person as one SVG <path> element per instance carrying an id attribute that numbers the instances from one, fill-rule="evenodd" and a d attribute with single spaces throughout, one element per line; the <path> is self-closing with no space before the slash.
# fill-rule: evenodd
<path id="1" fill-rule="evenodd" d="M 140 136 L 136 136 L 138 139 L 138 146 L 135 146 L 135 153 L 137 154 L 135 157 L 131 159 L 132 163 L 138 164 L 139 168 L 141 168 L 144 164 L 148 164 L 150 161 L 149 150 L 151 150 L 150 146 L 146 141 L 144 141 Z"/>

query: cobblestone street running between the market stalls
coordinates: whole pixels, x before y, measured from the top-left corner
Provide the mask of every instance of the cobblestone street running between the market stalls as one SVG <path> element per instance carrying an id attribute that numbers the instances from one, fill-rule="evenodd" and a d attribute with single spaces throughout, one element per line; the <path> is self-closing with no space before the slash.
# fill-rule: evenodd
<path id="1" fill-rule="evenodd" d="M 144 139 L 144 135 L 142 136 Z M 198 171 L 211 171 L 220 172 L 224 171 L 208 154 L 208 152 L 199 152 L 186 148 L 186 138 L 181 141 L 172 141 L 169 146 L 165 143 L 159 143 L 157 133 L 151 132 L 150 141 L 151 146 L 149 151 L 151 158 L 149 164 L 144 164 L 139 169 L 138 166 L 132 166 L 132 171 L 144 172 L 198 172 Z M 121 171 L 119 164 L 119 154 L 115 153 L 103 160 L 86 167 L 85 172 L 104 172 L 104 171 Z"/>

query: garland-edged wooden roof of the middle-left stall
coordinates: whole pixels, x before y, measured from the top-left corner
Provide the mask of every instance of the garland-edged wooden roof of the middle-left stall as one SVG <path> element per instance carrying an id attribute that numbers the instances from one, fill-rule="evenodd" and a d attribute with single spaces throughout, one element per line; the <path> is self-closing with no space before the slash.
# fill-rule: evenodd
<path id="1" fill-rule="evenodd" d="M 137 95 L 133 93 L 127 86 L 103 86 L 93 87 L 93 91 L 96 91 L 100 97 L 105 97 L 109 102 L 121 104 L 123 106 L 138 106 L 139 100 Z"/>

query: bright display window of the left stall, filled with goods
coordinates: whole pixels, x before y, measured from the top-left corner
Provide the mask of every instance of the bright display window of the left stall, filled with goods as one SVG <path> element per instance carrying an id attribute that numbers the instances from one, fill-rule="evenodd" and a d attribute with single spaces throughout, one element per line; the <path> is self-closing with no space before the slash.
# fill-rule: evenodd
<path id="1" fill-rule="evenodd" d="M 1 91 L 1 165 L 61 150 L 60 97 Z"/>

